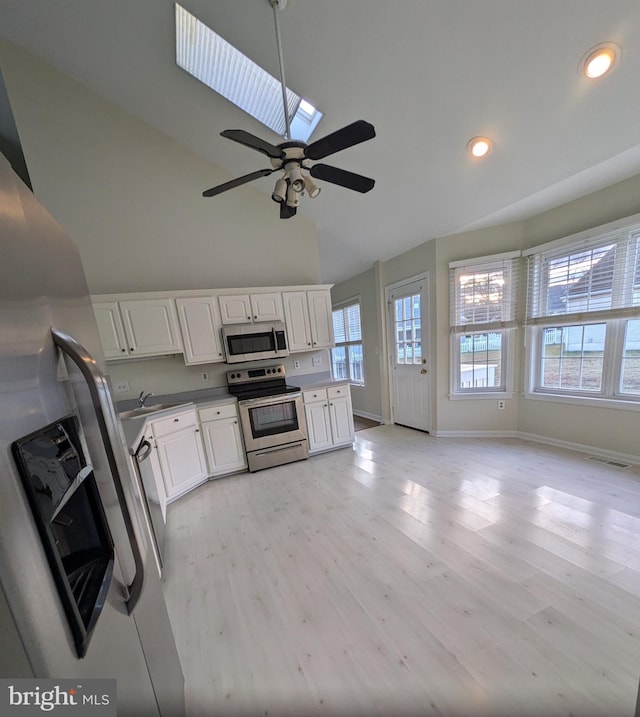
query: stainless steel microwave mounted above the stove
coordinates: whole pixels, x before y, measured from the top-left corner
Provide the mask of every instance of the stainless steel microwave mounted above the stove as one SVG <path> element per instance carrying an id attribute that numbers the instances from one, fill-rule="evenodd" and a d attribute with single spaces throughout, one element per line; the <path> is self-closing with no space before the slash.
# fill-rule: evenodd
<path id="1" fill-rule="evenodd" d="M 234 324 L 222 327 L 227 363 L 284 358 L 289 355 L 282 321 L 261 324 Z"/>

